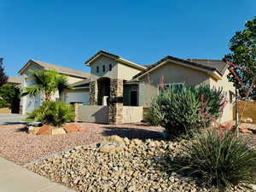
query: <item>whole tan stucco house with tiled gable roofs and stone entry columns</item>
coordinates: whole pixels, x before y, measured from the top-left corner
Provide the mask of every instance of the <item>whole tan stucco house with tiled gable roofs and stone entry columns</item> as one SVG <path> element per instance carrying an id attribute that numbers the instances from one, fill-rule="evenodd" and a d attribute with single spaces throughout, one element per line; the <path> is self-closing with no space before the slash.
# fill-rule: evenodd
<path id="1" fill-rule="evenodd" d="M 74 90 L 64 92 L 59 99 L 64 102 L 79 102 L 84 105 L 110 106 L 109 123 L 122 123 L 123 106 L 143 106 L 147 108 L 153 96 L 156 96 L 160 84 L 170 86 L 209 84 L 223 88 L 229 102 L 220 118 L 221 122 L 233 118 L 232 102 L 235 88 L 228 81 L 228 66 L 220 60 L 179 59 L 166 56 L 152 65 L 139 65 L 125 60 L 119 55 L 99 51 L 85 61 L 90 73 L 79 72 L 67 67 L 55 66 L 41 61 L 28 61 L 20 70 L 24 77 L 24 86 L 28 86 L 28 69 L 38 70 L 55 68 L 67 74 Z M 40 105 L 40 98 L 23 100 L 23 113 Z M 29 105 L 29 103 L 32 106 Z"/>

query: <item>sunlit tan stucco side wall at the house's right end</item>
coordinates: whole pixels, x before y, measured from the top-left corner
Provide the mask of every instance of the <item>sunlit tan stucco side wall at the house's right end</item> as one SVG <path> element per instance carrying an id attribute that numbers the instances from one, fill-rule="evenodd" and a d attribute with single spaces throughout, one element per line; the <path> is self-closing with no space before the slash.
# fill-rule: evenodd
<path id="1" fill-rule="evenodd" d="M 224 93 L 227 96 L 227 104 L 224 108 L 222 116 L 218 119 L 221 123 L 230 121 L 233 119 L 233 102 L 235 100 L 235 87 L 232 82 L 229 82 L 227 75 L 229 74 L 229 70 L 227 69 L 224 73 L 224 76 L 221 80 L 215 80 L 210 78 L 210 86 L 213 88 L 222 88 Z"/>

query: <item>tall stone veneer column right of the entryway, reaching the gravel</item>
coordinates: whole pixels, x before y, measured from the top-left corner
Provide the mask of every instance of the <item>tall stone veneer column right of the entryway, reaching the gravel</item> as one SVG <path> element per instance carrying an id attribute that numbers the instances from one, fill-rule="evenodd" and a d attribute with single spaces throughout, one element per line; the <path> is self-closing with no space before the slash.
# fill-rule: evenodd
<path id="1" fill-rule="evenodd" d="M 123 79 L 110 79 L 108 123 L 123 123 Z"/>

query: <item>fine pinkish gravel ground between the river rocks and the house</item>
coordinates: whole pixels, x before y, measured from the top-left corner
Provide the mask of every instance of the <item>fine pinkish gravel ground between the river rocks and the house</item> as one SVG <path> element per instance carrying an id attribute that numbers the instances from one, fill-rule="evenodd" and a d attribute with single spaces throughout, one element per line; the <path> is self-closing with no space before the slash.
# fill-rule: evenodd
<path id="1" fill-rule="evenodd" d="M 0 156 L 23 165 L 68 148 L 99 143 L 106 136 L 154 138 L 161 137 L 158 131 L 163 130 L 145 124 L 113 126 L 81 123 L 79 126 L 86 127 L 86 130 L 58 136 L 37 136 L 27 134 L 26 125 L 0 125 Z"/>

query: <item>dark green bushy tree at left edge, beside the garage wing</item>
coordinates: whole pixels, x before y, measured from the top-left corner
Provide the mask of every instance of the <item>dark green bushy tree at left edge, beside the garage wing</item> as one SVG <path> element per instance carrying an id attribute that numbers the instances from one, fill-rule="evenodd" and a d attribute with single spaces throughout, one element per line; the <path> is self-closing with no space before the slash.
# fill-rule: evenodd
<path id="1" fill-rule="evenodd" d="M 0 108 L 10 108 L 12 113 L 20 111 L 20 88 L 15 84 L 3 84 L 0 87 Z"/>

